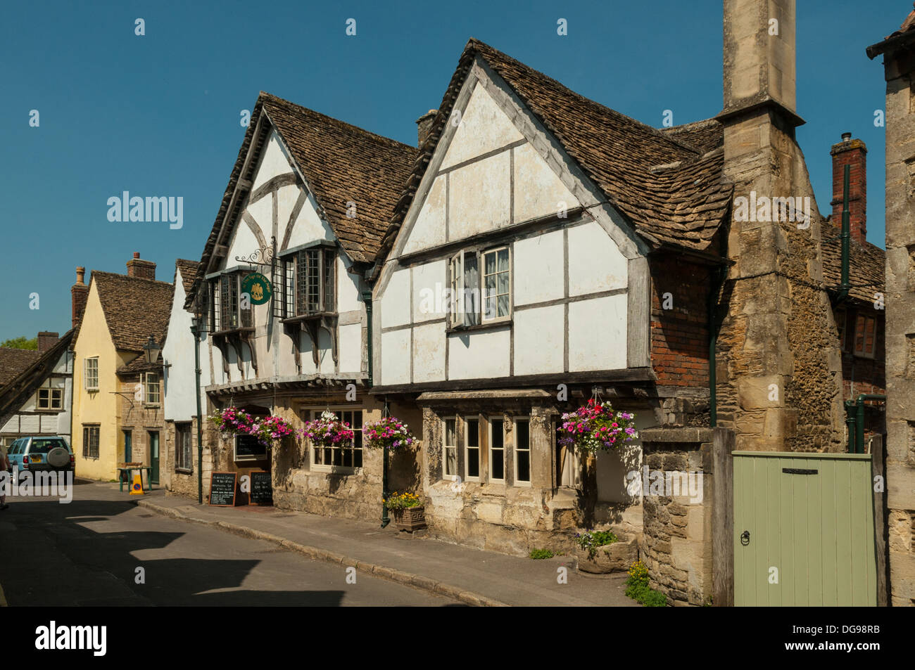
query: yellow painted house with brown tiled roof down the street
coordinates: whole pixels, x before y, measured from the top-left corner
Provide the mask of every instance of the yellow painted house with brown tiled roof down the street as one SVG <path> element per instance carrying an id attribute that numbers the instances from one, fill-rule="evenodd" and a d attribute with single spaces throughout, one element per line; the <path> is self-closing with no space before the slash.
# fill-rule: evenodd
<path id="1" fill-rule="evenodd" d="M 144 356 L 150 335 L 162 344 L 173 290 L 170 283 L 156 282 L 156 263 L 140 260 L 138 253 L 127 262 L 126 275 L 93 271 L 88 287 L 81 279 L 74 285 L 74 309 L 85 300 L 72 345 L 77 476 L 112 480 L 125 456 L 130 462 L 157 462 L 158 431 L 164 431 L 159 409 L 161 374 L 141 366 L 151 371 L 139 378 L 137 387 L 131 370 L 139 363 L 136 359 Z M 135 437 L 141 436 L 156 440 L 138 452 Z"/>

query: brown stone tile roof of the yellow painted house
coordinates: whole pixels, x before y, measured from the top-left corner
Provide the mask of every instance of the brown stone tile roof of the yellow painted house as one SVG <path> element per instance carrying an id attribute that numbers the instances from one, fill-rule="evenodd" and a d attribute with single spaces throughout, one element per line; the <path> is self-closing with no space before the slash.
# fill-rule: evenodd
<path id="1" fill-rule="evenodd" d="M 151 279 L 92 271 L 114 348 L 142 352 L 149 335 L 165 342 L 174 285 Z"/>

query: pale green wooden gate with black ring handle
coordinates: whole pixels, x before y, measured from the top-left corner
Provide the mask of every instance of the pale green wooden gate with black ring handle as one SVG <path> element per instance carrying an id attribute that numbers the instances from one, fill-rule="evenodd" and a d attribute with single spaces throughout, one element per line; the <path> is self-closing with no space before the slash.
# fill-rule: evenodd
<path id="1" fill-rule="evenodd" d="M 733 456 L 734 604 L 876 606 L 870 454 Z"/>

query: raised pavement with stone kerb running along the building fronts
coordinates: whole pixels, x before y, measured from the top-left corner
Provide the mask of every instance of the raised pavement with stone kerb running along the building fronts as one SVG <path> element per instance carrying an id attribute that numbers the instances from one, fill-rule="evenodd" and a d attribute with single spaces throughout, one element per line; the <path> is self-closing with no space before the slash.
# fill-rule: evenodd
<path id="1" fill-rule="evenodd" d="M 161 489 L 145 495 L 138 505 L 470 605 L 640 606 L 625 595 L 625 574 L 579 573 L 571 556 L 539 560 L 506 556 L 415 537 L 398 531 L 393 523 L 381 528 L 380 522 L 370 524 L 274 507 L 198 505 L 184 496 L 166 495 Z M 564 575 L 565 583 L 560 579 Z"/>

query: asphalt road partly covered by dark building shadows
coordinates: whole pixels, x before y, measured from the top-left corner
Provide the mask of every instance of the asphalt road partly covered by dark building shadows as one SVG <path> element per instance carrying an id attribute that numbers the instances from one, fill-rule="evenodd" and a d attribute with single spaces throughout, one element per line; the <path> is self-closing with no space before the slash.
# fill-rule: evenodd
<path id="1" fill-rule="evenodd" d="M 117 484 L 73 488 L 69 504 L 11 496 L 0 511 L 0 607 L 465 605 L 154 514 Z"/>

